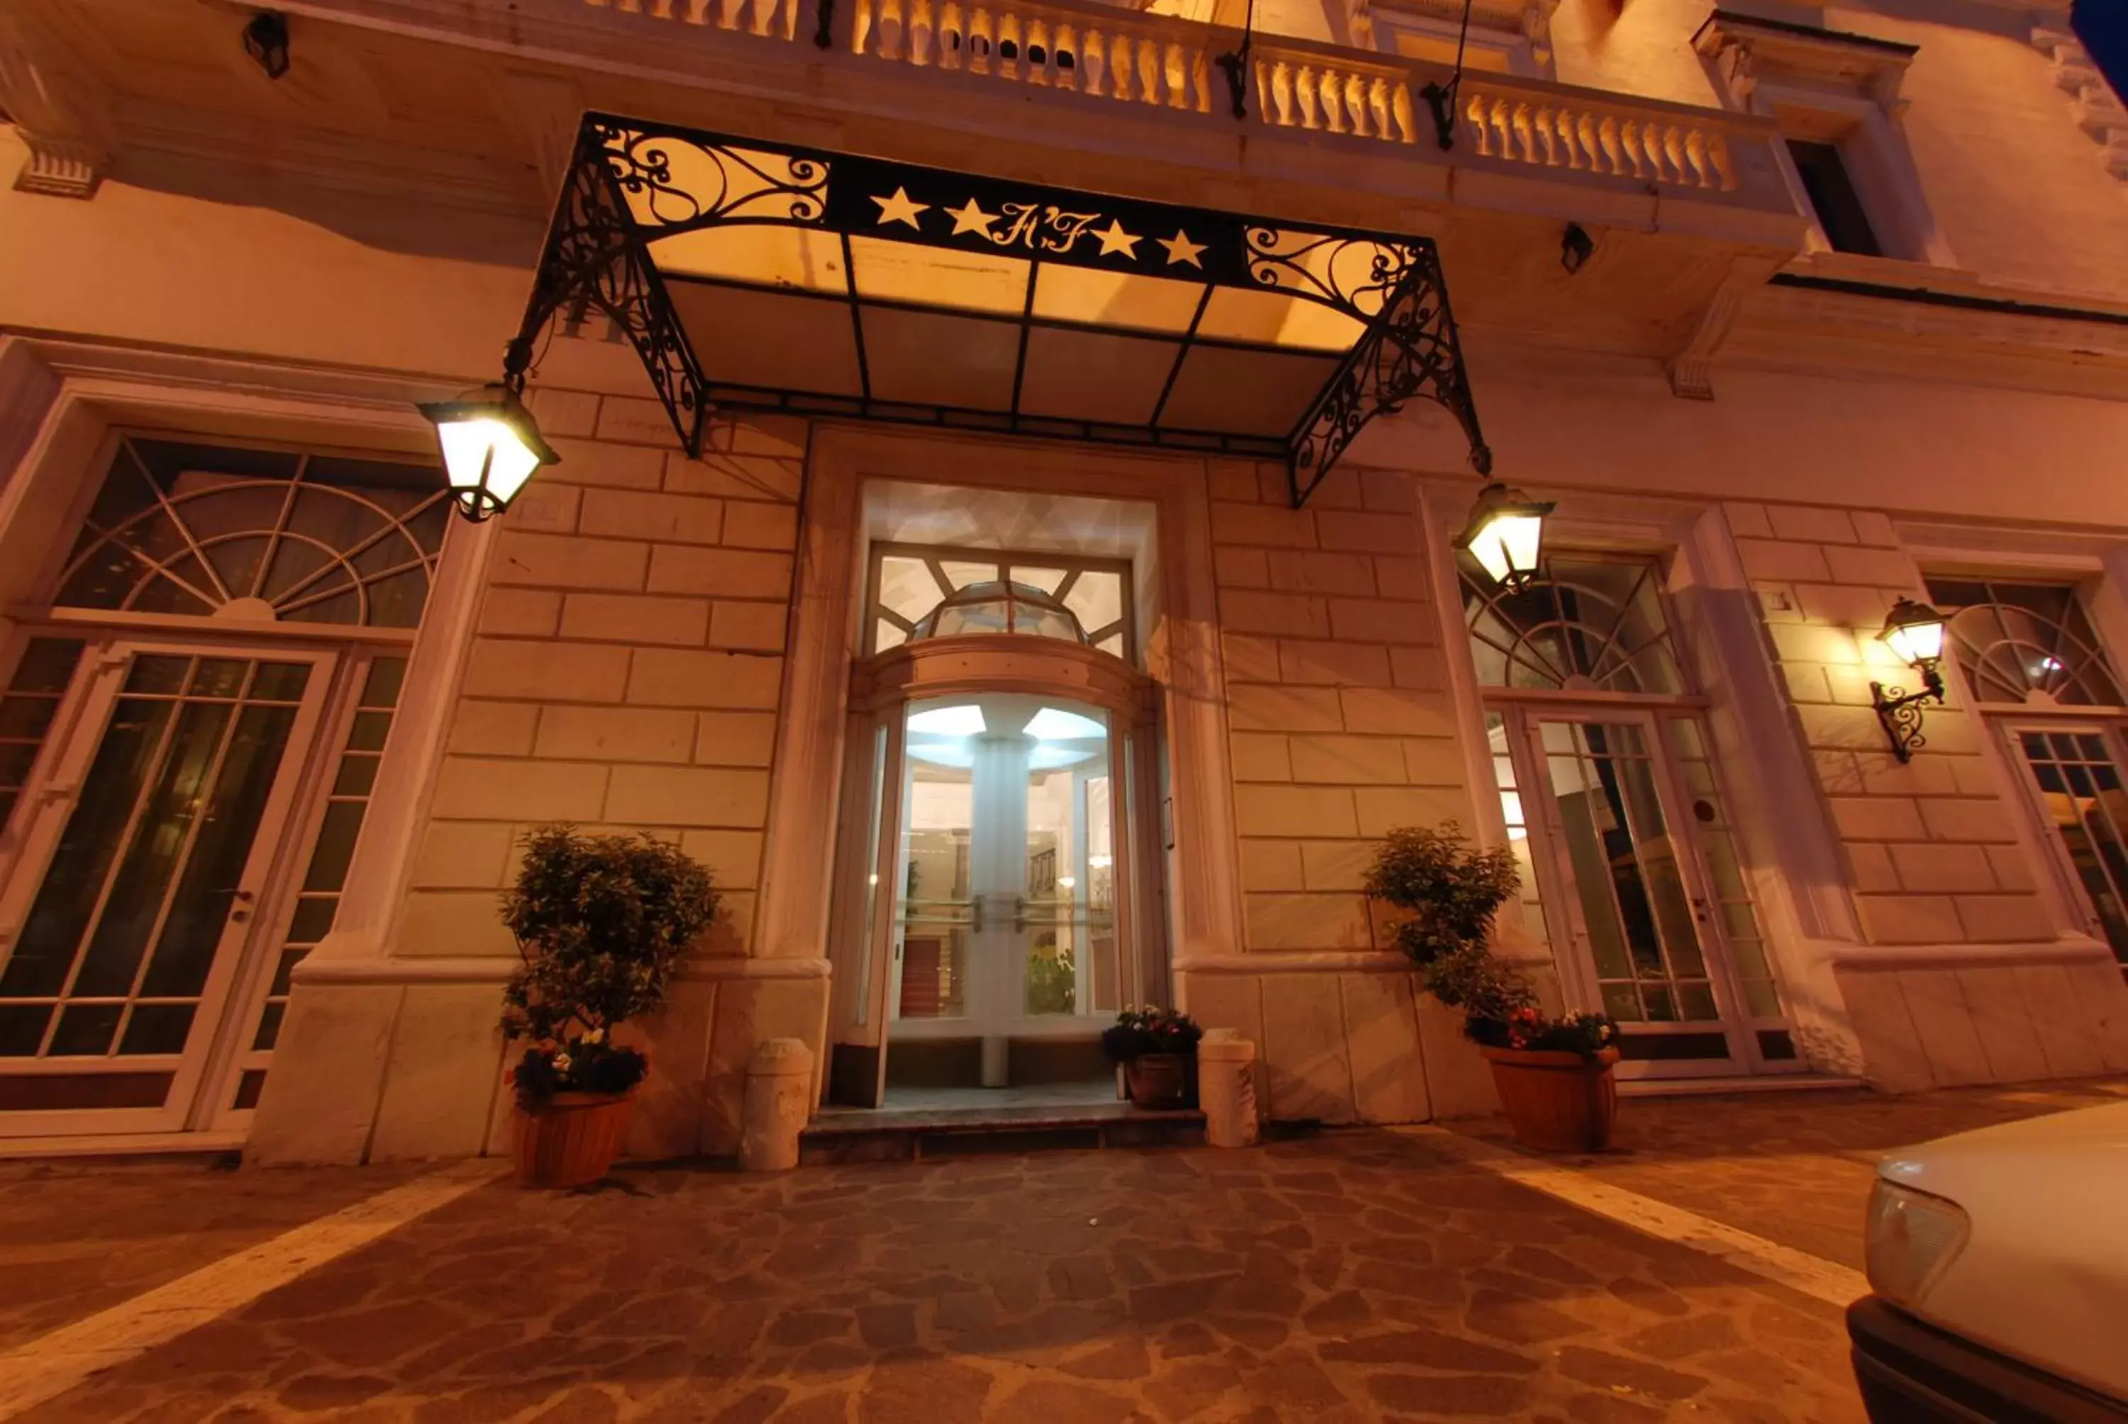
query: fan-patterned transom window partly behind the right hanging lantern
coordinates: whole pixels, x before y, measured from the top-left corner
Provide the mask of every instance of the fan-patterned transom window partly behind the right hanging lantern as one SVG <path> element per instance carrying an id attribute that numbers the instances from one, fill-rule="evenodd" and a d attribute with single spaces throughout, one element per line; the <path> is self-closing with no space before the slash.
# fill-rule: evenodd
<path id="1" fill-rule="evenodd" d="M 1487 688 L 1688 692 L 1651 558 L 1551 553 L 1517 590 L 1464 560 L 1460 579 Z"/>

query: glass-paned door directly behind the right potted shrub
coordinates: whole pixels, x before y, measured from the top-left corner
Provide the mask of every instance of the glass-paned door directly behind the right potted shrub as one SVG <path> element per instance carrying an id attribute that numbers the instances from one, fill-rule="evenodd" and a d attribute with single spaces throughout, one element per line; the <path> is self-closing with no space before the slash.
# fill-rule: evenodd
<path id="1" fill-rule="evenodd" d="M 1496 741 L 1519 741 L 1515 785 L 1530 792 L 1502 796 L 1515 800 L 1511 824 L 1541 837 L 1530 860 L 1545 924 L 1553 945 L 1573 945 L 1562 971 L 1579 979 L 1585 1007 L 1619 1022 L 1626 1071 L 1698 1077 L 1792 1066 L 1698 719 L 1513 709 L 1496 713 L 1494 726 Z"/>

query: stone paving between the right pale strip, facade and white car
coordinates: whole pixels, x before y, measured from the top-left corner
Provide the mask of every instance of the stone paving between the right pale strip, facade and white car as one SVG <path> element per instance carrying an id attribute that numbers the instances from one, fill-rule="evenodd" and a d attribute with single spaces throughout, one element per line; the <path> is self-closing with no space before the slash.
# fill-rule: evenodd
<path id="1" fill-rule="evenodd" d="M 1885 1152 L 2124 1096 L 2128 1077 L 1902 1098 L 1866 1090 L 1628 1098 L 1611 1152 L 1549 1160 L 1860 1271 L 1862 1213 Z M 1456 1126 L 1509 1139 L 1500 1120 Z"/>

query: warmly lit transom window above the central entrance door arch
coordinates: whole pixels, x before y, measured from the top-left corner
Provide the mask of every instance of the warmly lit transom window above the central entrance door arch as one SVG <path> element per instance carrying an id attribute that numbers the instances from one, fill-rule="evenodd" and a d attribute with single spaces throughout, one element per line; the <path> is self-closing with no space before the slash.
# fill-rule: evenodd
<path id="1" fill-rule="evenodd" d="M 1134 662 L 1130 564 L 1064 553 L 872 545 L 864 651 L 1017 632 Z"/>

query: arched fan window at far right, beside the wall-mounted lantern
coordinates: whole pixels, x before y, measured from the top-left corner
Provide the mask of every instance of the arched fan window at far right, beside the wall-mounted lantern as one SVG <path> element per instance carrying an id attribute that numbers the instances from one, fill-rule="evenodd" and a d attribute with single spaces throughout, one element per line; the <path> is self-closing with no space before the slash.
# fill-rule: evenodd
<path id="1" fill-rule="evenodd" d="M 1981 702 L 2122 707 L 2119 679 L 2068 583 L 1930 579 L 1949 643 Z"/>

